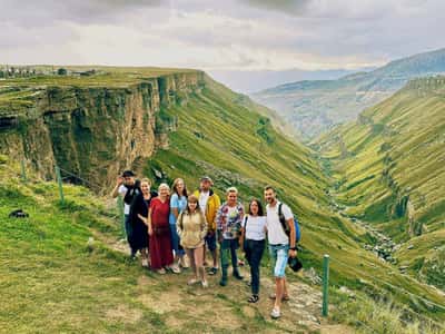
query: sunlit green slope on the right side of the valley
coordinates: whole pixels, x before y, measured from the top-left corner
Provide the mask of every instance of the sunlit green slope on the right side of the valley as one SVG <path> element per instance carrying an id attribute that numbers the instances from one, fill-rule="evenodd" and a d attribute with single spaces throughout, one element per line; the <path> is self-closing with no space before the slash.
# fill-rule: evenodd
<path id="1" fill-rule="evenodd" d="M 399 245 L 399 266 L 445 287 L 445 78 L 411 81 L 317 145 L 349 216 Z"/>

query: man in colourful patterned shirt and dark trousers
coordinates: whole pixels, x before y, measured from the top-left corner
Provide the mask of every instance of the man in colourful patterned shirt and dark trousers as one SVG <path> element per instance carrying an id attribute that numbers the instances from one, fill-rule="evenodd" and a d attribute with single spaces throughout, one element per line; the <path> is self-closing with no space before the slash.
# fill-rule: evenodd
<path id="1" fill-rule="evenodd" d="M 234 277 L 243 279 L 238 271 L 238 258 L 236 250 L 239 247 L 239 238 L 241 236 L 241 222 L 244 217 L 243 204 L 238 202 L 238 190 L 230 187 L 226 191 L 227 202 L 224 203 L 216 217 L 217 236 L 220 245 L 221 258 L 221 279 L 220 286 L 227 285 L 227 269 L 229 266 L 229 256 L 231 257 L 231 266 L 234 267 Z"/>

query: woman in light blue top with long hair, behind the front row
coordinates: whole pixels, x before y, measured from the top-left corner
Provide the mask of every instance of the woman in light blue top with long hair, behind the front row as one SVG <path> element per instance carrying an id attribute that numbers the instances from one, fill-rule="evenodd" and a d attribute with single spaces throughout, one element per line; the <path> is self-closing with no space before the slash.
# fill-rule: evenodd
<path id="1" fill-rule="evenodd" d="M 178 219 L 179 214 L 187 207 L 187 187 L 184 183 L 184 179 L 177 178 L 175 179 L 170 197 L 170 234 L 171 234 L 171 250 L 175 252 L 174 265 L 171 267 L 172 272 L 176 274 L 180 273 L 179 265 L 184 268 L 188 267 L 185 263 L 184 248 L 180 246 L 180 240 L 178 233 L 176 230 L 176 222 Z"/>

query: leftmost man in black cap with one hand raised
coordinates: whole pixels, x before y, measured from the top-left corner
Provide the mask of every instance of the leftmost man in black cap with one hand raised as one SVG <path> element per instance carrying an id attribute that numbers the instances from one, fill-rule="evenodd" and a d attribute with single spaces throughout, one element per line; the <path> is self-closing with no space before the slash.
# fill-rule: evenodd
<path id="1" fill-rule="evenodd" d="M 127 234 L 127 240 L 130 245 L 132 226 L 130 217 L 130 205 L 132 198 L 140 193 L 136 175 L 131 170 L 126 170 L 121 176 L 117 178 L 115 188 L 112 189 L 111 196 L 116 198 L 121 196 L 123 198 L 123 216 L 125 216 L 125 229 Z M 131 248 L 131 245 L 130 245 Z M 131 258 L 136 256 L 136 249 L 131 248 Z"/>

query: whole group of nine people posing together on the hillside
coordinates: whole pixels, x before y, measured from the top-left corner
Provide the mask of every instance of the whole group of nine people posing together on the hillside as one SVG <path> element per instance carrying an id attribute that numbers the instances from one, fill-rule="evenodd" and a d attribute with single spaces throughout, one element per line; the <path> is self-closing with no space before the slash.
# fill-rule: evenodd
<path id="1" fill-rule="evenodd" d="M 188 191 L 181 178 L 175 179 L 171 190 L 162 183 L 158 191 L 152 191 L 149 179 L 138 180 L 131 170 L 126 170 L 112 190 L 112 197 L 117 196 L 123 198 L 132 258 L 139 252 L 142 266 L 161 275 L 168 271 L 179 274 L 191 267 L 188 284 L 200 283 L 206 288 L 206 269 L 208 275 L 216 275 L 220 269 L 219 285 L 227 285 L 229 263 L 233 276 L 244 278 L 237 257 L 237 249 L 241 248 L 250 267 L 249 303 L 259 299 L 259 268 L 267 238 L 276 283 L 270 295 L 275 299 L 270 316 L 280 317 L 281 301 L 289 298 L 285 269 L 288 258 L 297 255 L 296 232 L 290 208 L 277 199 L 271 186 L 264 189 L 266 210 L 259 199 L 251 199 L 247 213 L 236 187 L 226 190 L 226 200 L 221 204 L 208 176 L 200 179 L 194 193 Z M 290 233 L 286 233 L 283 224 Z M 206 261 L 207 249 L 211 255 L 210 265 Z"/>

